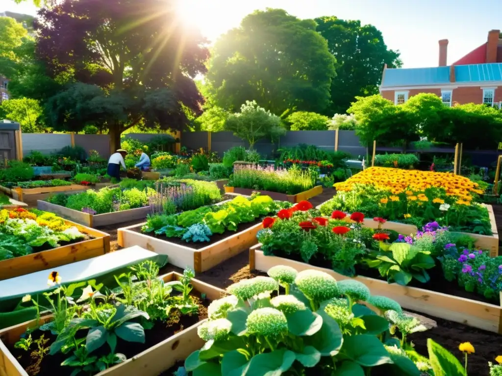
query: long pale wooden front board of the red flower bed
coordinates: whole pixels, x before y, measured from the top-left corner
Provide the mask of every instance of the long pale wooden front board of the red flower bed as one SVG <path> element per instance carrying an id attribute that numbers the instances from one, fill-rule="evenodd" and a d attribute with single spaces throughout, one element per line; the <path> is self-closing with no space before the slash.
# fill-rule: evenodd
<path id="1" fill-rule="evenodd" d="M 286 265 L 298 271 L 320 270 L 333 276 L 337 281 L 355 279 L 364 283 L 372 295 L 383 295 L 396 300 L 403 308 L 440 317 L 478 329 L 502 333 L 502 307 L 477 300 L 465 299 L 410 286 L 401 286 L 379 279 L 356 276 L 347 277 L 331 269 L 320 268 L 299 261 L 276 256 L 265 256 L 261 244 L 249 249 L 249 270 L 267 272 L 276 265 Z M 502 294 L 501 294 L 502 295 Z"/>

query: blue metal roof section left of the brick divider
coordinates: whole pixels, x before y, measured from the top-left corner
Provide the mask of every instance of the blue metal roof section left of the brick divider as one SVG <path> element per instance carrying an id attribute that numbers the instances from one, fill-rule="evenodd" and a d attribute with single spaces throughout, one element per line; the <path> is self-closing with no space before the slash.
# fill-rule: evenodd
<path id="1" fill-rule="evenodd" d="M 450 82 L 450 67 L 386 69 L 382 86 L 436 85 Z"/>

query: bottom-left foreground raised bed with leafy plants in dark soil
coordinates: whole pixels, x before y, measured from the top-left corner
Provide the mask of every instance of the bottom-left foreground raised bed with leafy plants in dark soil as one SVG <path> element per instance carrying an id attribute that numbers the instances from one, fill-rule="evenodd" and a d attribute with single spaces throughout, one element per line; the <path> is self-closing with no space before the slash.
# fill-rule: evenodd
<path id="1" fill-rule="evenodd" d="M 115 365 L 122 374 L 139 374 L 130 367 L 141 364 L 151 372 L 154 365 L 144 358 L 160 346 L 162 361 L 172 366 L 173 356 L 198 343 L 185 337 L 193 337 L 198 323 L 214 314 L 208 298 L 223 291 L 193 280 L 189 269 L 183 275 L 158 273 L 158 265 L 146 261 L 103 286 L 96 280 L 65 285 L 64 276 L 53 271 L 48 280 L 53 289 L 20 298 L 17 309 L 35 308 L 37 319 L 2 332 L 4 364 L 30 376 L 93 375 Z M 40 317 L 42 311 L 51 315 Z M 177 345 L 166 340 L 170 337 L 179 350 L 173 351 Z M 6 351 L 14 356 L 6 357 Z M 127 360 L 133 356 L 134 362 Z"/>

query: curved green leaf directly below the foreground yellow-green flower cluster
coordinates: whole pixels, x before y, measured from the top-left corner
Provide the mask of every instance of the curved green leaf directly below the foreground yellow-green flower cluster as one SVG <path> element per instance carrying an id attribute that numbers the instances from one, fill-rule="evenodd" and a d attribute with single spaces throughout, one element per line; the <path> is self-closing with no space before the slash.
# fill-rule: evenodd
<path id="1" fill-rule="evenodd" d="M 321 329 L 314 335 L 304 338 L 305 345 L 315 347 L 322 356 L 336 355 L 343 342 L 343 335 L 335 319 L 329 316 L 324 309 L 316 312 L 322 317 Z"/>

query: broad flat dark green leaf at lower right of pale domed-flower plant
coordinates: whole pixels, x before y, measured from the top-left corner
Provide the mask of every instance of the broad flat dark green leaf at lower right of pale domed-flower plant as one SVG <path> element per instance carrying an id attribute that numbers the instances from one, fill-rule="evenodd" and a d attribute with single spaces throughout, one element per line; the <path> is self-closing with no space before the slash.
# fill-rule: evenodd
<path id="1" fill-rule="evenodd" d="M 370 334 L 357 334 L 344 338 L 342 353 L 365 367 L 392 363 L 389 352 L 378 338 Z"/>

